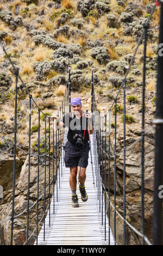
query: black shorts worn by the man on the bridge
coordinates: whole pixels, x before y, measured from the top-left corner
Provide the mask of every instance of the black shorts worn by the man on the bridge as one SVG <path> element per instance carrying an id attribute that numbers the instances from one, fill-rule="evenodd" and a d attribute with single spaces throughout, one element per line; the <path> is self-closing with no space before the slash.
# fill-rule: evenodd
<path id="1" fill-rule="evenodd" d="M 73 145 L 70 141 L 66 142 L 64 147 L 65 151 L 65 166 L 66 168 L 81 166 L 83 168 L 87 167 L 89 159 L 90 145 L 86 142 L 84 148 L 79 148 Z"/>

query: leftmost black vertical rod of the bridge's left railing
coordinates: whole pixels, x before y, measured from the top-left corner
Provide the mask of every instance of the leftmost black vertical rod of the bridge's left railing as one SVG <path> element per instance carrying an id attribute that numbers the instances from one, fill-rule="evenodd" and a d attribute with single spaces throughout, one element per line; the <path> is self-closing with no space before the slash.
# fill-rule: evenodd
<path id="1" fill-rule="evenodd" d="M 10 245 L 12 245 L 12 242 L 13 242 L 13 230 L 14 230 L 18 69 L 15 70 L 15 78 L 16 78 L 16 81 L 15 81 L 15 119 L 14 119 L 14 163 L 13 163 L 13 187 L 12 187 L 12 212 L 11 212 L 11 241 L 10 241 Z"/>

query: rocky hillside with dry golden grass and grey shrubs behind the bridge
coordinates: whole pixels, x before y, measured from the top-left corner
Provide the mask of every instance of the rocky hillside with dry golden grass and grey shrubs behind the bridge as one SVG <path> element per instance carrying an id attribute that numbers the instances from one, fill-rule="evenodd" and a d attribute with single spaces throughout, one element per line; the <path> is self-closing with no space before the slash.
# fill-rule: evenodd
<path id="1" fill-rule="evenodd" d="M 80 96 L 83 109 L 90 109 L 91 68 L 95 67 L 95 94 L 98 110 L 105 114 L 121 85 L 140 38 L 143 22 L 152 10 L 153 1 L 126 0 L 0 0 L 0 41 L 20 70 L 24 83 L 40 106 L 51 116 L 58 111 L 71 67 L 72 97 Z M 155 83 L 157 70 L 159 8 L 156 8 L 148 29 L 146 130 L 151 129 L 155 114 Z M 143 44 L 140 45 L 127 78 L 127 146 L 141 132 Z M 11 213 L 12 165 L 14 138 L 15 76 L 7 56 L 0 47 L 0 221 Z M 18 83 L 18 137 L 16 171 L 16 213 L 27 206 L 28 171 L 28 94 Z M 123 95 L 118 97 L 117 145 L 123 148 Z M 32 106 L 32 150 L 37 150 L 37 109 Z M 41 120 L 41 136 L 45 129 Z M 111 111 L 111 141 L 114 148 L 114 111 Z M 42 149 L 43 150 L 43 149 Z M 43 152 L 43 151 L 42 151 Z M 127 151 L 127 219 L 140 230 L 141 223 L 141 143 Z M 111 163 L 111 177 L 114 175 Z M 154 171 L 154 132 L 145 142 L 145 230 L 152 241 L 152 193 Z M 43 189 L 43 166 L 42 166 Z M 123 156 L 117 160 L 117 210 L 123 215 Z M 114 192 L 111 178 L 111 192 Z M 30 204 L 36 200 L 36 161 L 33 159 Z M 111 196 L 113 202 L 113 198 Z M 43 205 L 43 202 L 42 202 Z M 40 214 L 42 207 L 40 206 Z M 36 210 L 36 209 L 35 209 Z M 30 231 L 35 228 L 35 210 Z M 112 217 L 111 217 L 112 221 Z M 9 244 L 10 223 L 0 227 L 1 244 Z M 15 221 L 14 239 L 22 244 L 26 236 L 25 216 Z M 123 224 L 117 218 L 117 242 L 123 243 Z M 130 229 L 128 243 L 139 244 L 141 239 Z M 33 243 L 32 237 L 30 243 Z"/>

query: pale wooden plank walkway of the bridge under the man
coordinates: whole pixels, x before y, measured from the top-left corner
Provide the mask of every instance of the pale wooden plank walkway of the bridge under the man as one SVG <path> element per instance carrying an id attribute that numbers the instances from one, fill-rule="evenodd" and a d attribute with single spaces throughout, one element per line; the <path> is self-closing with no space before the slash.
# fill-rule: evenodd
<path id="1" fill-rule="evenodd" d="M 91 135 L 91 141 L 93 135 Z M 93 145 L 91 144 L 92 160 Z M 63 154 L 62 154 L 63 156 Z M 99 200 L 97 200 L 97 188 L 93 187 L 91 155 L 89 155 L 89 165 L 86 169 L 85 188 L 88 200 L 83 202 L 77 184 L 77 194 L 79 207 L 71 205 L 71 189 L 69 184 L 70 169 L 65 168 L 62 158 L 62 177 L 60 171 L 60 188 L 58 180 L 58 201 L 56 198 L 56 186 L 54 197 L 51 201 L 51 227 L 49 227 L 49 212 L 45 220 L 45 241 L 43 241 L 43 227 L 38 236 L 37 245 L 109 245 L 108 217 L 106 216 L 106 240 L 105 226 L 102 226 L 102 217 L 99 213 Z M 94 166 L 93 166 L 94 168 Z M 61 170 L 61 166 L 60 166 Z M 94 172 L 94 178 L 96 176 Z M 104 208 L 104 207 L 103 207 Z M 36 245 L 36 242 L 35 242 Z M 114 239 L 110 231 L 110 245 L 114 245 Z"/>

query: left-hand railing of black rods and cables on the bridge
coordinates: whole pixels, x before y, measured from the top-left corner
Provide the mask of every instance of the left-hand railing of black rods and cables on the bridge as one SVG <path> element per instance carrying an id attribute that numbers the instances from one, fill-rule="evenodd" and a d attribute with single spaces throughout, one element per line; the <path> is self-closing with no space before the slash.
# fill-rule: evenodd
<path id="1" fill-rule="evenodd" d="M 49 212 L 49 226 L 51 225 L 51 185 L 53 184 L 53 194 L 54 194 L 54 185 L 55 190 L 56 190 L 56 197 L 58 200 L 58 183 L 59 183 L 59 188 L 60 188 L 60 174 L 62 175 L 62 163 L 60 163 L 60 159 L 62 161 L 62 156 L 61 156 L 61 148 L 62 148 L 62 141 L 64 139 L 64 131 L 61 130 L 56 130 L 55 132 L 55 138 L 54 138 L 54 118 L 51 118 L 49 116 L 46 116 L 46 114 L 43 113 L 43 111 L 40 109 L 39 105 L 35 102 L 34 98 L 32 95 L 29 93 L 29 90 L 24 84 L 23 80 L 21 79 L 21 76 L 18 74 L 19 70 L 18 68 L 14 65 L 14 63 L 11 61 L 10 56 L 8 55 L 7 51 L 5 50 L 3 46 L 3 51 L 5 52 L 5 55 L 9 59 L 9 62 L 14 70 L 15 74 L 15 126 L 14 126 L 14 142 L 10 142 L 9 140 L 4 140 L 9 146 L 14 146 L 14 163 L 13 163 L 13 185 L 12 185 L 12 212 L 11 216 L 8 218 L 3 219 L 0 224 L 11 221 L 11 235 L 10 235 L 10 245 L 13 244 L 13 239 L 14 239 L 14 219 L 21 217 L 24 213 L 27 213 L 27 233 L 26 233 L 26 241 L 24 242 L 24 245 L 28 245 L 29 239 L 32 237 L 33 234 L 36 235 L 36 245 L 38 242 L 38 235 L 39 235 L 39 225 L 42 223 L 44 220 L 44 239 L 46 237 L 45 233 L 45 217 L 46 213 Z M 63 96 L 63 100 L 61 102 L 61 107 L 60 107 L 60 118 L 67 112 L 67 108 L 70 108 L 70 96 L 68 93 L 70 92 L 70 69 L 68 68 L 68 79 L 66 82 L 66 90 L 65 94 Z M 22 86 L 26 89 L 26 92 L 29 96 L 29 150 L 28 152 L 26 150 L 23 150 L 21 146 L 17 145 L 17 85 L 18 85 L 18 79 L 22 82 Z M 39 120 L 39 125 L 38 125 L 38 135 L 37 135 L 37 153 L 31 153 L 31 128 L 32 128 L 32 100 L 34 102 L 34 105 L 36 106 L 38 110 L 38 120 Z M 45 120 L 45 152 L 40 154 L 40 114 L 43 115 L 44 120 Z M 53 129 L 51 131 L 51 119 L 53 121 Z M 48 127 L 47 127 L 48 126 Z M 47 129 L 48 128 L 48 129 Z M 52 142 L 51 142 L 51 134 L 52 134 Z M 55 145 L 54 145 L 55 141 Z M 21 213 L 15 215 L 15 178 L 16 178 L 16 148 L 19 150 L 23 151 L 24 153 L 28 154 L 28 189 L 27 189 L 27 208 L 24 209 Z M 51 152 L 52 149 L 52 152 Z M 36 195 L 36 200 L 34 203 L 31 205 L 30 201 L 30 171 L 31 171 L 31 157 L 37 158 L 37 195 Z M 48 162 L 47 162 L 48 160 Z M 51 161 L 52 160 L 52 161 Z M 55 162 L 54 162 L 55 160 Z M 53 171 L 51 171 L 51 162 L 53 165 Z M 40 165 L 43 164 L 45 171 L 45 177 L 44 177 L 44 191 L 40 195 Z M 47 175 L 47 166 L 48 166 L 48 175 Z M 61 173 L 60 173 L 60 167 L 61 167 Z M 43 167 L 42 167 L 43 168 Z M 53 175 L 51 175 L 51 172 Z M 48 176 L 48 181 L 47 181 L 47 176 Z M 52 176 L 52 177 L 51 177 Z M 59 180 L 59 181 L 58 181 Z M 47 197 L 48 197 L 48 204 L 47 204 Z M 39 201 L 43 200 L 43 214 L 42 216 L 39 210 Z M 54 200 L 54 196 L 53 196 Z M 33 209 L 33 207 L 36 206 L 36 227 L 34 230 L 31 232 L 29 235 L 29 220 L 30 220 L 30 210 Z M 53 213 L 54 213 L 54 201 L 53 201 Z"/>

